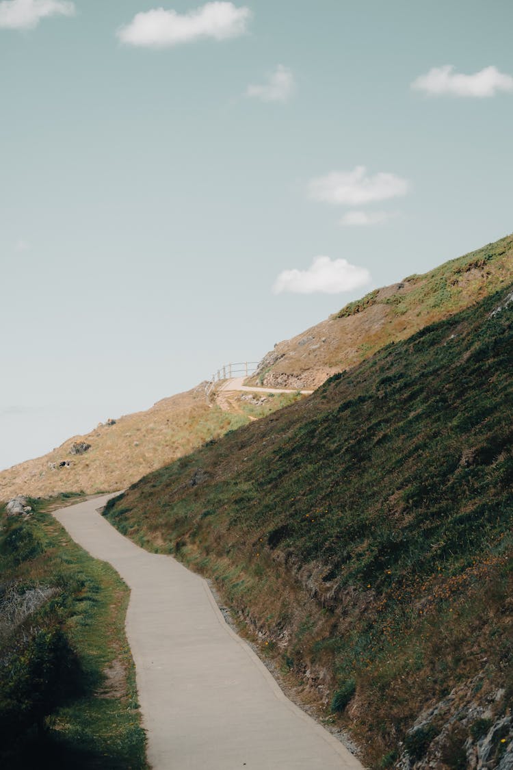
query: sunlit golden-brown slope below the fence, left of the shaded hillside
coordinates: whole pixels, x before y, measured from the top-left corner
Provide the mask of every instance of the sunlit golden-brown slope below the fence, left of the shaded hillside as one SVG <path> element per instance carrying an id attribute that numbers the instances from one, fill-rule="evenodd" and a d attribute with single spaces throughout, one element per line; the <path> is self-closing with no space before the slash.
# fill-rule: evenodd
<path id="1" fill-rule="evenodd" d="M 282 394 L 253 404 L 238 395 L 225 400 L 222 409 L 214 397 L 207 400 L 205 386 L 199 386 L 162 399 L 144 412 L 100 423 L 43 457 L 3 470 L 0 500 L 17 494 L 48 497 L 61 492 L 95 494 L 123 489 L 150 470 L 291 400 L 295 395 Z M 74 444 L 89 448 L 84 454 L 72 454 Z"/>

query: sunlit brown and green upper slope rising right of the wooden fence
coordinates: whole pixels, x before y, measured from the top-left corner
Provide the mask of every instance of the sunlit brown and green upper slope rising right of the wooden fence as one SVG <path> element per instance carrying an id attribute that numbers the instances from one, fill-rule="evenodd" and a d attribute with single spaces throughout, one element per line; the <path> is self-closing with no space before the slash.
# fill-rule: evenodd
<path id="1" fill-rule="evenodd" d="M 252 383 L 318 387 L 381 347 L 405 340 L 513 280 L 513 236 L 452 259 L 425 275 L 368 293 L 328 320 L 278 343 L 261 360 Z"/>

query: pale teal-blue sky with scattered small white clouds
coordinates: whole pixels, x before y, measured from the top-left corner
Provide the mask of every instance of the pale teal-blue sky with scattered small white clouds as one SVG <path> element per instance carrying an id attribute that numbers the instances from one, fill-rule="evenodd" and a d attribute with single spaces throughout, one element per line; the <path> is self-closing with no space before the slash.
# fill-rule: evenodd
<path id="1" fill-rule="evenodd" d="M 0 0 L 0 468 L 511 233 L 511 28 Z"/>

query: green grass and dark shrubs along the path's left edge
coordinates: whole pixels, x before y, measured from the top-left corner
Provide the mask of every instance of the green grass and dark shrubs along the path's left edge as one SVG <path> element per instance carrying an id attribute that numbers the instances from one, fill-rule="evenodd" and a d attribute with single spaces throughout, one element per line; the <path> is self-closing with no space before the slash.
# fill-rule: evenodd
<path id="1" fill-rule="evenodd" d="M 128 588 L 31 504 L 0 531 L 0 765 L 146 768 Z"/>

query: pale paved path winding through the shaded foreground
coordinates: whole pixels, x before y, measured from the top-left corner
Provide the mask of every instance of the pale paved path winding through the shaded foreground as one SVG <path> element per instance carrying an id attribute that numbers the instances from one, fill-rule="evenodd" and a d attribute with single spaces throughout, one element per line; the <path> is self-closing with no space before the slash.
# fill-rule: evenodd
<path id="1" fill-rule="evenodd" d="M 285 698 L 225 623 L 202 577 L 172 557 L 143 551 L 97 513 L 108 497 L 54 515 L 131 588 L 126 629 L 152 768 L 361 770 Z"/>

